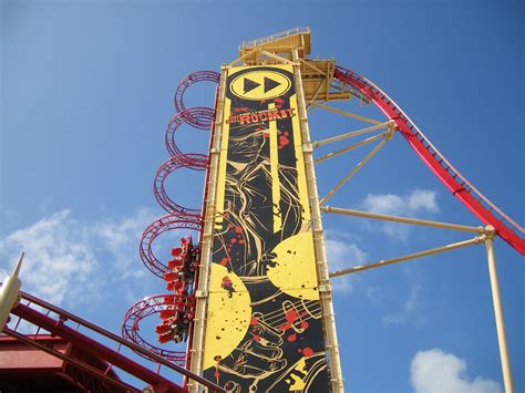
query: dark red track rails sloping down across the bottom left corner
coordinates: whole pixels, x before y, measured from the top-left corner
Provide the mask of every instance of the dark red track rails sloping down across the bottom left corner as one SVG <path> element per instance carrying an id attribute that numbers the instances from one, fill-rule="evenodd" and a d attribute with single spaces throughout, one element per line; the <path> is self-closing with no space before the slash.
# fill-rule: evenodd
<path id="1" fill-rule="evenodd" d="M 200 382 L 202 384 L 209 386 L 212 391 L 224 392 L 220 387 L 214 385 L 207 380 L 193 374 L 181 365 L 177 365 L 163 358 L 162 353 L 157 351 L 150 351 L 142 348 L 128 340 L 125 340 L 105 329 L 97 327 L 80 317 L 74 316 L 61 308 L 58 308 L 49 302 L 45 302 L 37 297 L 29 293 L 20 292 L 21 302 L 14 307 L 11 311 L 12 316 L 19 318 L 18 323 L 14 324 L 13 329 L 4 328 L 3 332 L 17 338 L 18 340 L 27 343 L 28 345 L 34 345 L 40 350 L 50 353 L 64 362 L 83 370 L 104 381 L 107 385 L 123 389 L 130 392 L 140 392 L 138 389 L 123 382 L 119 378 L 114 378 L 113 368 L 117 368 L 131 375 L 134 375 L 138 380 L 142 380 L 146 384 L 150 384 L 155 391 L 162 392 L 186 392 L 186 389 L 173 383 L 168 378 L 163 376 L 159 373 L 159 366 L 164 365 L 165 369 L 175 371 L 186 378 L 193 379 Z M 20 322 L 25 321 L 35 327 L 38 331 L 35 334 L 22 334 L 18 331 Z M 70 324 L 70 325 L 69 325 Z M 45 330 L 51 335 L 58 335 L 86 353 L 92 354 L 96 359 L 107 363 L 105 371 L 95 369 L 89 364 L 82 356 L 76 356 L 75 351 L 69 351 L 62 353 L 55 351 L 52 347 L 42 345 L 38 342 L 37 338 L 39 332 Z M 81 330 L 83 332 L 81 332 Z M 106 344 L 102 344 L 101 342 Z M 115 350 L 107 345 L 115 345 Z M 156 371 L 153 371 L 126 356 L 122 353 L 122 350 L 127 348 L 128 350 L 135 351 L 142 356 L 155 362 L 157 364 Z M 174 359 L 175 360 L 175 359 Z"/>

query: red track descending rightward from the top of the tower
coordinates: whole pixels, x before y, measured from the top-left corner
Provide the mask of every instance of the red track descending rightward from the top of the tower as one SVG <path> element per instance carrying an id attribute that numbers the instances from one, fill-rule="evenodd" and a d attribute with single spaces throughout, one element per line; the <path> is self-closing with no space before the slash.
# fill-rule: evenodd
<path id="1" fill-rule="evenodd" d="M 494 227 L 496 234 L 519 254 L 525 255 L 525 229 L 503 213 L 475 188 L 437 151 L 410 117 L 381 89 L 364 76 L 337 65 L 337 80 L 359 90 L 381 112 L 395 122 L 399 132 L 434 175 L 460 199 L 483 224 Z"/>

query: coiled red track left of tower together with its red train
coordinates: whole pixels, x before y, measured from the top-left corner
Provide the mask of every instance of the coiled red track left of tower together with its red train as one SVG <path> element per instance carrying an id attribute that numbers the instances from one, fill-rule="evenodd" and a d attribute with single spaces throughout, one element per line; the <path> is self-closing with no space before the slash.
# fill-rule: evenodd
<path id="1" fill-rule="evenodd" d="M 186 76 L 175 91 L 175 110 L 177 114 L 169 121 L 165 144 L 169 158 L 161 165 L 153 182 L 153 194 L 158 205 L 166 210 L 167 215 L 153 221 L 142 236 L 140 256 L 146 268 L 155 276 L 167 281 L 167 294 L 157 294 L 143 299 L 133 304 L 124 317 L 122 328 L 123 337 L 136 344 L 146 348 L 159 356 L 166 358 L 177 364 L 185 365 L 186 351 L 166 350 L 150 343 L 140 334 L 140 323 L 145 318 L 158 316 L 162 322 L 156 327 L 159 343 L 168 341 L 186 341 L 191 334 L 191 321 L 194 317 L 195 286 L 197 279 L 195 263 L 193 260 L 188 266 L 178 263 L 188 258 L 187 252 L 194 252 L 197 258 L 198 248 L 191 247 L 191 239 L 183 238 L 182 248 L 172 250 L 174 259 L 161 261 L 153 252 L 154 240 L 171 230 L 186 230 L 200 232 L 200 209 L 187 208 L 174 201 L 165 189 L 166 177 L 175 170 L 186 168 L 192 170 L 204 170 L 208 166 L 208 156 L 196 153 L 183 153 L 176 143 L 176 133 L 182 125 L 191 125 L 199 130 L 209 130 L 214 121 L 214 110 L 209 107 L 189 107 L 184 104 L 184 94 L 194 83 L 217 83 L 219 74 L 213 71 L 199 71 Z M 181 250 L 183 251 L 181 255 Z M 185 270 L 186 269 L 186 270 Z M 178 279 L 178 277 L 191 276 L 191 279 Z"/>

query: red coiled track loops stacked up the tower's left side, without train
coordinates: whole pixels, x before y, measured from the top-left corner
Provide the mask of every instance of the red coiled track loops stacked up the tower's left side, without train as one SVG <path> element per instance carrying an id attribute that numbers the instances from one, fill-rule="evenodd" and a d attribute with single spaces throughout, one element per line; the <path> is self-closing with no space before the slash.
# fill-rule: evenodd
<path id="1" fill-rule="evenodd" d="M 197 82 L 215 82 L 217 83 L 220 74 L 214 71 L 198 71 L 186 76 L 178 85 L 175 92 L 175 110 L 177 114 L 174 115 L 165 132 L 166 149 L 171 157 L 164 162 L 155 174 L 153 182 L 153 193 L 161 207 L 167 211 L 167 215 L 161 217 L 150 224 L 144 230 L 141 244 L 140 256 L 146 268 L 159 278 L 165 278 L 167 275 L 177 276 L 174 269 L 171 269 L 167 263 L 162 262 L 153 252 L 153 241 L 161 235 L 176 229 L 195 230 L 200 232 L 202 216 L 200 209 L 187 208 L 175 203 L 165 189 L 165 180 L 169 174 L 175 170 L 186 168 L 192 170 L 204 170 L 208 167 L 209 157 L 205 154 L 183 153 L 176 143 L 176 134 L 178 128 L 184 125 L 191 125 L 199 130 L 210 130 L 215 111 L 210 107 L 189 107 L 184 105 L 184 93 L 194 83 Z M 173 251 L 172 251 L 173 252 Z M 177 297 L 194 297 L 193 285 L 188 286 L 186 293 L 171 293 L 157 294 L 148 297 L 133 304 L 124 316 L 124 323 L 122 325 L 122 335 L 131 340 L 141 348 L 146 349 L 150 353 L 153 352 L 161 358 L 165 358 L 177 364 L 184 365 L 187 361 L 186 352 L 176 350 L 166 350 L 157 345 L 153 345 L 144 337 L 140 334 L 140 323 L 142 320 L 157 314 L 162 318 L 163 312 L 174 310 Z M 168 290 L 171 288 L 168 287 Z M 187 314 L 187 313 L 186 313 Z M 171 322 L 169 322 L 171 323 Z M 158 328 L 158 327 L 157 327 Z M 163 328 L 171 328 L 171 324 L 163 325 Z M 169 329 L 168 329 L 169 330 Z M 172 333 L 167 333 L 168 335 Z M 191 333 L 189 333 L 191 334 Z M 166 335 L 166 334 L 163 334 Z M 164 342 L 161 340 L 159 341 Z"/>

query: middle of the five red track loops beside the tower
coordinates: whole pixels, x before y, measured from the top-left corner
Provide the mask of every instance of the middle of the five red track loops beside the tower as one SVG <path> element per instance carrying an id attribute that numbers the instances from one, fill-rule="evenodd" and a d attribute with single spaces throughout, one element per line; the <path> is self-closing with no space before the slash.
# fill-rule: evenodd
<path id="1" fill-rule="evenodd" d="M 167 213 L 183 213 L 191 215 L 200 214 L 200 209 L 188 209 L 176 203 L 174 203 L 167 195 L 164 188 L 164 180 L 166 177 L 176 169 L 188 168 L 194 170 L 204 170 L 207 166 L 208 157 L 203 154 L 181 154 L 174 156 L 161 165 L 157 173 L 155 174 L 155 180 L 153 182 L 153 193 L 158 204 Z"/>

